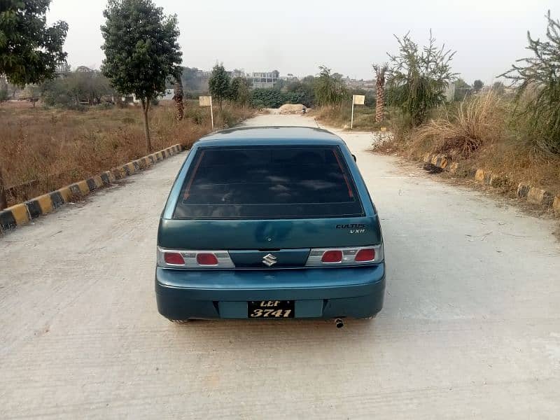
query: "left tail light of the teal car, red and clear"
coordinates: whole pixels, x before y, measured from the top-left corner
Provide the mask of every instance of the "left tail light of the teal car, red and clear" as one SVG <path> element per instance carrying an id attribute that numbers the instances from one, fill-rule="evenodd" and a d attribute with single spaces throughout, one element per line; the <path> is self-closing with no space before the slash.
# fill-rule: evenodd
<path id="1" fill-rule="evenodd" d="M 228 251 L 184 251 L 160 248 L 158 266 L 167 268 L 234 268 Z"/>

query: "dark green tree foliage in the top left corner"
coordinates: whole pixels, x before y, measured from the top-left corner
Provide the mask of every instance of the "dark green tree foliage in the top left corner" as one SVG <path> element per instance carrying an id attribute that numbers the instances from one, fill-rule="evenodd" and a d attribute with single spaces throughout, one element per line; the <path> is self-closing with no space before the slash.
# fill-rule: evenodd
<path id="1" fill-rule="evenodd" d="M 10 83 L 23 86 L 53 78 L 66 59 L 62 45 L 68 24 L 48 27 L 49 5 L 50 0 L 0 1 L 0 74 Z"/>

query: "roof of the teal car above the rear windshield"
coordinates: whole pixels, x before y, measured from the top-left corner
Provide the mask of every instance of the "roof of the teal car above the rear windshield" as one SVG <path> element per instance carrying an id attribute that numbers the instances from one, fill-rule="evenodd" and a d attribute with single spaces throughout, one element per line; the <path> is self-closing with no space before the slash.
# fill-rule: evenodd
<path id="1" fill-rule="evenodd" d="M 336 134 L 313 127 L 235 127 L 221 130 L 196 142 L 197 146 L 246 146 L 246 145 L 342 145 Z"/>

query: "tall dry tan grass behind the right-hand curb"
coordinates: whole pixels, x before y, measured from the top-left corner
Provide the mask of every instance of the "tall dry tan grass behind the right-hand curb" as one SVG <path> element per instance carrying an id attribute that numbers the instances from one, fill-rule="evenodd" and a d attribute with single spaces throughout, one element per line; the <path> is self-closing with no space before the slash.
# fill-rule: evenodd
<path id="1" fill-rule="evenodd" d="M 526 182 L 560 194 L 560 156 L 547 155 L 529 141 L 526 122 L 512 120 L 512 106 L 493 92 L 472 97 L 414 130 L 397 123 L 395 142 L 385 150 L 409 158 L 444 153 L 468 167 L 503 174 L 512 186 Z"/>

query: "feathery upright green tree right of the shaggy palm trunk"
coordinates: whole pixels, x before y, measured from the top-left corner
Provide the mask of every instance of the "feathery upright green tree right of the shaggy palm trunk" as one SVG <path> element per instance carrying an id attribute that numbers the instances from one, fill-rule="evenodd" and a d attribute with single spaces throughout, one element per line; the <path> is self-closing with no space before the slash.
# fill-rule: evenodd
<path id="1" fill-rule="evenodd" d="M 399 52 L 388 54 L 393 68 L 388 76 L 388 85 L 393 89 L 393 104 L 407 113 L 414 125 L 421 125 L 430 110 L 444 104 L 444 92 L 449 82 L 456 77 L 451 71 L 451 59 L 455 52 L 437 48 L 430 31 L 428 45 L 419 48 L 409 34 L 397 38 Z"/>

